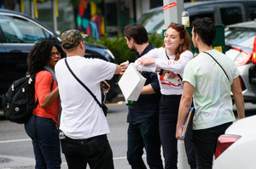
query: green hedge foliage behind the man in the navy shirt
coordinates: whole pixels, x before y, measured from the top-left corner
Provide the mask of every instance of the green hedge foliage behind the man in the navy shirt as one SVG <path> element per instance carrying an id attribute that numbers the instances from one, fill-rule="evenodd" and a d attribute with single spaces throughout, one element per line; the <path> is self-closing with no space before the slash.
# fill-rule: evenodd
<path id="1" fill-rule="evenodd" d="M 117 37 L 101 37 L 99 41 L 87 37 L 86 41 L 107 47 L 113 53 L 118 64 L 125 62 L 126 60 L 129 60 L 130 62 L 135 61 L 135 52 L 127 47 L 125 37 L 121 35 Z M 148 42 L 152 42 L 155 48 L 160 48 L 163 43 L 163 38 L 157 34 L 149 35 Z"/>

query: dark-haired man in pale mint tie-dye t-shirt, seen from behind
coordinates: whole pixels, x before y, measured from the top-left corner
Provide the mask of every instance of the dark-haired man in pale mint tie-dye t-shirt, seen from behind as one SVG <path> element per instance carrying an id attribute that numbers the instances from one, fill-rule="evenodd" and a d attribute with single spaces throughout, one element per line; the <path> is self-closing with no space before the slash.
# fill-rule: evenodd
<path id="1" fill-rule="evenodd" d="M 193 97 L 193 142 L 197 168 L 211 169 L 218 136 L 224 134 L 226 128 L 235 121 L 230 92 L 235 98 L 238 119 L 244 117 L 244 102 L 236 65 L 212 48 L 216 33 L 212 20 L 198 19 L 192 25 L 192 41 L 200 54 L 190 60 L 184 69 L 176 137 L 183 139 L 183 122 Z"/>

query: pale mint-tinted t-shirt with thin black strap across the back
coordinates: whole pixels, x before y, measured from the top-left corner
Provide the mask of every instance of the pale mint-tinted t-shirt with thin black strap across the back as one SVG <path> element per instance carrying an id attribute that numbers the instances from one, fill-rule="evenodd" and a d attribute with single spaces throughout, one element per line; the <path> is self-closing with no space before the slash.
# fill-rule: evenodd
<path id="1" fill-rule="evenodd" d="M 239 70 L 230 58 L 218 50 L 213 49 L 207 53 L 222 65 L 230 82 L 224 71 L 208 54 L 200 53 L 195 59 L 189 61 L 184 70 L 183 81 L 195 87 L 194 130 L 216 127 L 235 120 L 230 86 L 239 76 Z"/>

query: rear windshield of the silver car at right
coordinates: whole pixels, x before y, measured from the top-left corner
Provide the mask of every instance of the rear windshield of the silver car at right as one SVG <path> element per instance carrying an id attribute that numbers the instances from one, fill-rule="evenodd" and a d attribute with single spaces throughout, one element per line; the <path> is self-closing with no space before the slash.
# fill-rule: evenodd
<path id="1" fill-rule="evenodd" d="M 246 48 L 253 48 L 256 31 L 251 28 L 230 28 L 225 31 L 226 45 L 237 45 Z"/>

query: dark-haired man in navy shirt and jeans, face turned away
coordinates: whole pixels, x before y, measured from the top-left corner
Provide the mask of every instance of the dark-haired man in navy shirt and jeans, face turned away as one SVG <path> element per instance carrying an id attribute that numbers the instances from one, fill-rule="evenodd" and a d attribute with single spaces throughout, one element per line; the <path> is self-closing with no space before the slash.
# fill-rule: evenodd
<path id="1" fill-rule="evenodd" d="M 154 48 L 148 42 L 148 32 L 143 25 L 126 25 L 124 35 L 128 48 L 137 52 L 136 59 Z M 121 67 L 125 69 L 125 64 L 121 64 Z M 137 101 L 128 107 L 127 160 L 132 169 L 147 168 L 142 158 L 145 148 L 150 169 L 163 169 L 159 134 L 160 85 L 155 73 L 143 71 L 141 74 L 147 81 Z"/>

